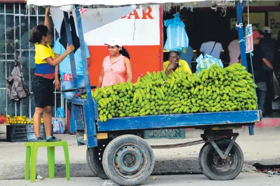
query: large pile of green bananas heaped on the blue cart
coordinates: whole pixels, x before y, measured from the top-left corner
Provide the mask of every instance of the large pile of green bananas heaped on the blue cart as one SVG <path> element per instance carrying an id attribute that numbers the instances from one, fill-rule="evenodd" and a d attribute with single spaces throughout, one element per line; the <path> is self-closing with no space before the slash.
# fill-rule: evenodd
<path id="1" fill-rule="evenodd" d="M 197 73 L 147 72 L 136 83 L 97 88 L 99 118 L 257 109 L 257 85 L 240 63 Z"/>

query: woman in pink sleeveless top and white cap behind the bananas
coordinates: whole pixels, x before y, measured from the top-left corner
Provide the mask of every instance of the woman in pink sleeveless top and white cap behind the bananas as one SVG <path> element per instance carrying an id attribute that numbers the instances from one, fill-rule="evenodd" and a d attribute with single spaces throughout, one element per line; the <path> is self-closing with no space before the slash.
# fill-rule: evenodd
<path id="1" fill-rule="evenodd" d="M 128 52 L 122 47 L 119 38 L 111 38 L 105 43 L 110 55 L 102 62 L 102 69 L 98 78 L 97 88 L 132 81 L 132 66 Z M 127 75 L 127 80 L 125 79 Z"/>

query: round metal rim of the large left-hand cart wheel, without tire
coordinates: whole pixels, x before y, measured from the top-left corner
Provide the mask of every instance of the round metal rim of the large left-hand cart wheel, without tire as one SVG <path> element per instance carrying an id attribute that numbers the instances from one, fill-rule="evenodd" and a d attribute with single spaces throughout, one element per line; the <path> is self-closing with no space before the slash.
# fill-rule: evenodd
<path id="1" fill-rule="evenodd" d="M 124 175 L 136 174 L 143 165 L 142 151 L 135 145 L 119 148 L 115 155 L 115 168 Z"/>

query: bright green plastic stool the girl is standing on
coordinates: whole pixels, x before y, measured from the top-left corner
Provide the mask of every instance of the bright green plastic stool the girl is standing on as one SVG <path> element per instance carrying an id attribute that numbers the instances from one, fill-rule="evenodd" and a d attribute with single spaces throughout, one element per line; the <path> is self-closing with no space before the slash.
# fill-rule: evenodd
<path id="1" fill-rule="evenodd" d="M 54 178 L 54 148 L 55 146 L 63 146 L 66 166 L 66 179 L 70 180 L 70 163 L 69 163 L 69 151 L 66 141 L 57 142 L 25 142 L 26 156 L 25 156 L 25 180 L 29 179 L 29 166 L 30 167 L 30 182 L 35 182 L 36 179 L 36 161 L 37 151 L 41 146 L 47 147 L 47 161 L 48 161 L 48 175 L 49 178 Z"/>

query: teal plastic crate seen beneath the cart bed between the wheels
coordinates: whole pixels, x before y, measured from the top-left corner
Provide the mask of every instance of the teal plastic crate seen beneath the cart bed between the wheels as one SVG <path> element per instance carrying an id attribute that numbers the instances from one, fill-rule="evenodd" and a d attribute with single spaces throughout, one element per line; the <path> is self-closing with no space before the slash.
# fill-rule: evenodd
<path id="1" fill-rule="evenodd" d="M 185 128 L 144 130 L 144 139 L 183 139 L 185 136 Z"/>

